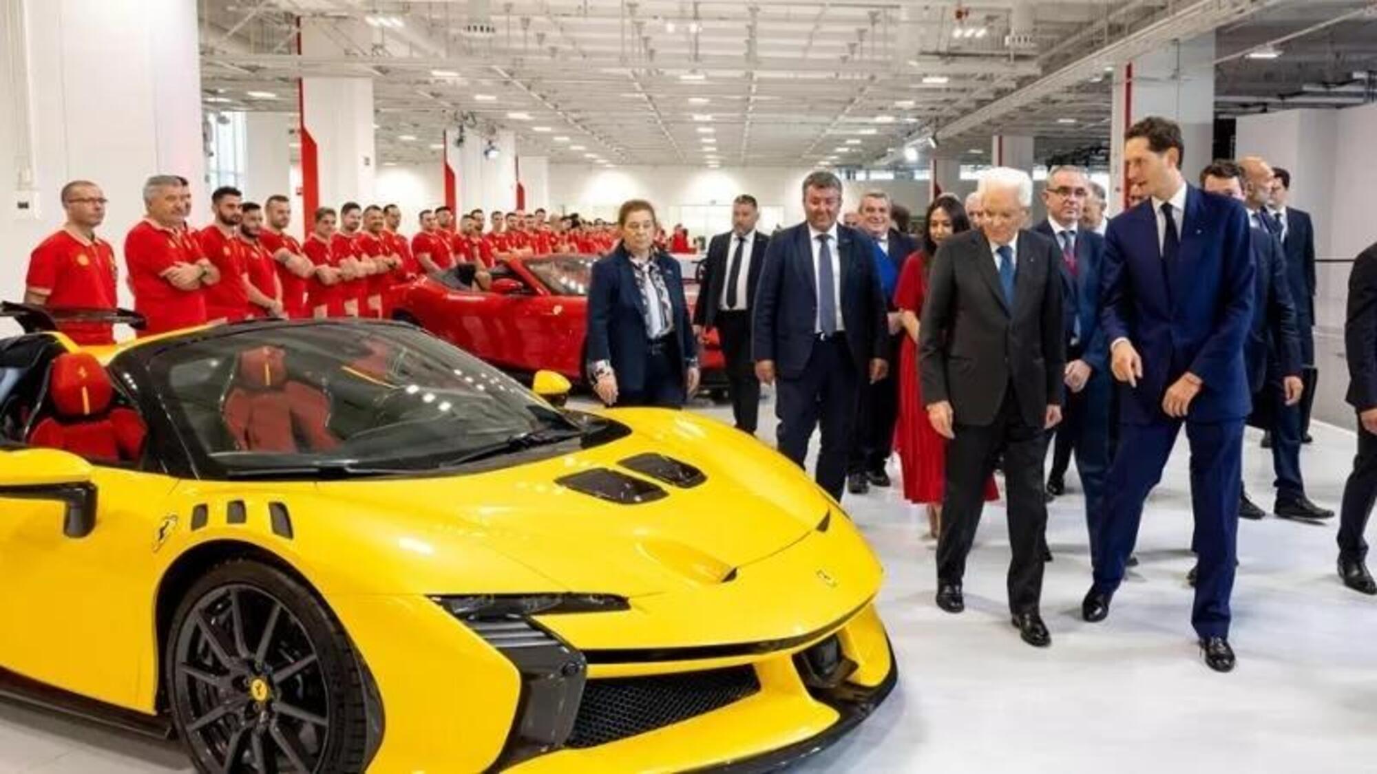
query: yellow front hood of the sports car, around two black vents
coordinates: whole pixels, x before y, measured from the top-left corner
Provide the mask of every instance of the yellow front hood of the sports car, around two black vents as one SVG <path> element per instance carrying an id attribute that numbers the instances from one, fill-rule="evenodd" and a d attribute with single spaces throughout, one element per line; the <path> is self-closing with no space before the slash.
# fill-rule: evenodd
<path id="1" fill-rule="evenodd" d="M 636 596 L 701 587 L 800 541 L 828 514 L 830 500 L 803 471 L 755 438 L 683 412 L 610 415 L 633 432 L 487 472 L 326 482 L 317 493 L 339 508 L 379 514 L 369 530 L 376 551 L 391 550 L 403 566 L 377 569 L 395 570 L 405 588 L 391 591 L 420 594 L 518 591 L 507 588 L 511 574 L 490 585 L 474 577 L 479 547 L 567 591 Z M 679 488 L 621 464 L 647 452 L 691 464 L 706 481 Z M 666 496 L 621 504 L 556 483 L 595 468 L 649 481 Z"/>

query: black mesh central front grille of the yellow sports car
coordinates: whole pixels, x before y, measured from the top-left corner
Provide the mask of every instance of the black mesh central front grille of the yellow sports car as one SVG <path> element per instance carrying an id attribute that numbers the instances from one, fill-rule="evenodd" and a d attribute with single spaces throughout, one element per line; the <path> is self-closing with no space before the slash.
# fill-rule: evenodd
<path id="1" fill-rule="evenodd" d="M 759 690 L 752 667 L 588 680 L 574 731 L 565 744 L 589 748 L 635 737 L 722 709 Z"/>

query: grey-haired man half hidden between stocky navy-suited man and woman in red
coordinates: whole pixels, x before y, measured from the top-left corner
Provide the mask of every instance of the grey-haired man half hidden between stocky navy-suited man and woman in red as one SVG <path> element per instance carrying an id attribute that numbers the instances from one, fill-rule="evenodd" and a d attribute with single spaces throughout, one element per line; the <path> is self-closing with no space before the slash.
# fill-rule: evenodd
<path id="1" fill-rule="evenodd" d="M 899 351 L 899 310 L 894 306 L 894 288 L 899 284 L 903 262 L 917 244 L 907 234 L 894 230 L 890 194 L 866 191 L 861 197 L 861 230 L 874 240 L 876 269 L 885 299 L 885 322 L 890 331 L 890 351 Z M 872 485 L 890 486 L 885 464 L 894 453 L 894 423 L 899 419 L 899 379 L 894 373 L 861 390 L 856 408 L 856 431 L 847 464 L 847 489 L 863 494 Z"/>

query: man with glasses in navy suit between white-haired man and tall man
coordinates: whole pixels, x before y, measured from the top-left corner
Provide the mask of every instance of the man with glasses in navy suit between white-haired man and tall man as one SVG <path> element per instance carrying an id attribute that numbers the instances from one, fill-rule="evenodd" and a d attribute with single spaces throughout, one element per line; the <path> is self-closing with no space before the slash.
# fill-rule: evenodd
<path id="1" fill-rule="evenodd" d="M 1108 342 L 1100 325 L 1100 263 L 1104 238 L 1081 229 L 1091 180 L 1078 167 L 1056 167 L 1047 176 L 1047 220 L 1034 231 L 1056 242 L 1062 258 L 1062 308 L 1066 317 L 1066 399 L 1062 424 L 1052 431 L 1048 494 L 1066 492 L 1064 475 L 1075 452 L 1075 471 L 1085 492 L 1085 514 L 1099 510 L 1110 466 Z"/>

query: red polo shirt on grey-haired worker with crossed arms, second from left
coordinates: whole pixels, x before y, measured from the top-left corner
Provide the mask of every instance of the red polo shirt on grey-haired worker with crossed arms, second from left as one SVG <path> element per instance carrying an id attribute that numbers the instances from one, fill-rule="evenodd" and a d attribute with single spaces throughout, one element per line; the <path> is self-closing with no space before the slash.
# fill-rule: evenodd
<path id="1" fill-rule="evenodd" d="M 124 238 L 124 263 L 134 288 L 134 310 L 147 321 L 139 336 L 205 325 L 205 291 L 179 291 L 160 277 L 178 263 L 198 260 L 201 248 L 186 229 L 164 229 L 147 219 L 129 229 Z"/>

